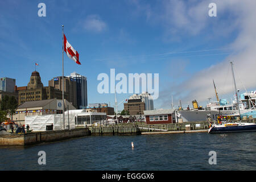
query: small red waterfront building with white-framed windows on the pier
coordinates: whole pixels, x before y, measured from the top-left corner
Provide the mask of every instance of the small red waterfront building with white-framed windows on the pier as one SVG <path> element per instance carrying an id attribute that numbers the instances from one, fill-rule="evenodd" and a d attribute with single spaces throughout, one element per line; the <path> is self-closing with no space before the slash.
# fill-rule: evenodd
<path id="1" fill-rule="evenodd" d="M 175 109 L 145 110 L 146 124 L 175 123 Z"/>

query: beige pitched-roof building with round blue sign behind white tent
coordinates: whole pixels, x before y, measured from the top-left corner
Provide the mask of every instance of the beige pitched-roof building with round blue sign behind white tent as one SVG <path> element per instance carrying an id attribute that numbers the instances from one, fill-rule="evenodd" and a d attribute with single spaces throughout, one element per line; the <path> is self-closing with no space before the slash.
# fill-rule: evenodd
<path id="1" fill-rule="evenodd" d="M 62 100 L 52 98 L 49 100 L 27 101 L 19 105 L 16 109 L 16 114 L 13 116 L 15 122 L 24 122 L 26 116 L 32 115 L 47 115 L 47 114 L 61 114 Z M 64 100 L 65 107 L 69 110 L 76 109 L 70 102 Z"/>

